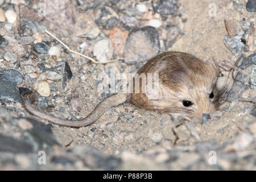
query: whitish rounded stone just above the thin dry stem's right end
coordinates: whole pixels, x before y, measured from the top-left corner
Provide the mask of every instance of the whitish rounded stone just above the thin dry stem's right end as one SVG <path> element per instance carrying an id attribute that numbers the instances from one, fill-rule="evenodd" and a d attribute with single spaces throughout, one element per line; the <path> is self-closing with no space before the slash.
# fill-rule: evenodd
<path id="1" fill-rule="evenodd" d="M 113 46 L 109 39 L 98 41 L 93 47 L 93 55 L 98 61 L 106 62 L 111 60 L 113 56 Z"/>

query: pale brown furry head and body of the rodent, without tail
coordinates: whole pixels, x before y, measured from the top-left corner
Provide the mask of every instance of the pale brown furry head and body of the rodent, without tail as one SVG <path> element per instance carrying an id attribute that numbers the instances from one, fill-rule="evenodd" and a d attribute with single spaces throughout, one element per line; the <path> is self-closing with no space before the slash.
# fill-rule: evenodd
<path id="1" fill-rule="evenodd" d="M 145 93 L 131 94 L 131 103 L 160 113 L 201 117 L 219 109 L 209 94 L 218 95 L 216 82 L 219 68 L 214 61 L 204 62 L 188 53 L 166 52 L 148 61 L 138 74 L 159 74 L 159 98 L 149 100 Z M 192 101 L 185 107 L 183 100 Z"/>

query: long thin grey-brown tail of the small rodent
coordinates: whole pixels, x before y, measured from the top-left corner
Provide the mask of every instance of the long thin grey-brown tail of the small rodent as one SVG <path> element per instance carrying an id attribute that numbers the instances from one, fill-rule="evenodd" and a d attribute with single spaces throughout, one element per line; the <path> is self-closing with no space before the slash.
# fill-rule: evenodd
<path id="1" fill-rule="evenodd" d="M 69 127 L 84 127 L 88 125 L 92 125 L 98 118 L 101 117 L 102 114 L 105 113 L 110 107 L 118 106 L 126 101 L 126 94 L 118 93 L 112 96 L 109 96 L 100 104 L 98 104 L 95 109 L 90 113 L 86 118 L 80 120 L 66 120 L 53 117 L 52 115 L 48 115 L 43 111 L 39 111 L 36 109 L 35 105 L 31 103 L 31 99 L 29 97 L 24 98 L 24 105 L 26 109 L 31 113 L 40 118 L 46 119 L 49 122 L 55 123 L 61 126 L 69 126 Z"/>

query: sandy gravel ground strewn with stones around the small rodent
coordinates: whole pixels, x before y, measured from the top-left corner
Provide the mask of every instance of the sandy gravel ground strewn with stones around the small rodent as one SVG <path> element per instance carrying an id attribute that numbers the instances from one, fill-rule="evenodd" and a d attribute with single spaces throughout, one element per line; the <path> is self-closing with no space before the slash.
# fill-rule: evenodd
<path id="1" fill-rule="evenodd" d="M 0 1 L 0 170 L 256 170 L 255 1 Z M 97 61 L 68 51 L 67 46 Z M 74 129 L 28 113 L 20 94 L 80 119 L 112 94 L 104 77 L 166 51 L 218 61 L 234 81 L 201 124 L 125 103 Z M 118 79 L 117 79 L 118 80 Z"/>

